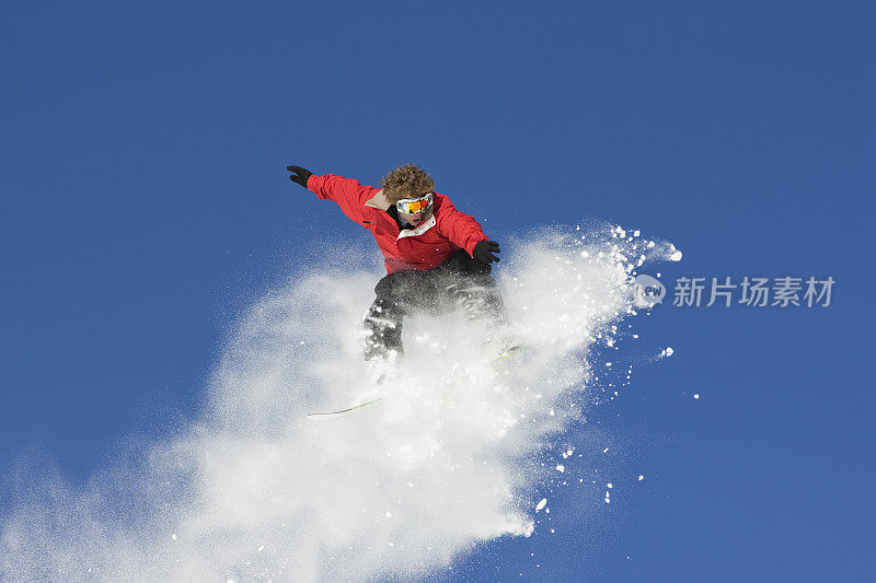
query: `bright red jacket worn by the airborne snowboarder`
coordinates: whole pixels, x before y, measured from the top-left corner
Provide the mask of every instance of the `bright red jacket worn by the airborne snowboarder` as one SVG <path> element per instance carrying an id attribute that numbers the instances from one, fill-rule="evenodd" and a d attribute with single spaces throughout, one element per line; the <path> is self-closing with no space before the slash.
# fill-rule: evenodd
<path id="1" fill-rule="evenodd" d="M 390 202 L 382 189 L 333 174 L 312 175 L 308 189 L 323 200 L 334 200 L 344 214 L 371 231 L 387 258 L 388 273 L 438 267 L 456 250 L 472 255 L 475 244 L 487 238 L 477 221 L 437 193 L 431 217 L 416 229 L 401 230 L 387 213 Z"/>

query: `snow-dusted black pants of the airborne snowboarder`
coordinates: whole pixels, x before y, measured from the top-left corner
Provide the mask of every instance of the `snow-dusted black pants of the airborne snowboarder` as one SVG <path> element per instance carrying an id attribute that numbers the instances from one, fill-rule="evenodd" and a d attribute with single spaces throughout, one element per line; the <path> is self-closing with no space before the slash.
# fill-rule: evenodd
<path id="1" fill-rule="evenodd" d="M 433 269 L 394 271 L 381 279 L 374 287 L 377 299 L 365 317 L 366 360 L 383 358 L 393 350 L 402 354 L 402 322 L 410 314 L 440 314 L 462 307 L 469 319 L 507 324 L 505 304 L 491 271 L 489 265 L 460 249 Z"/>

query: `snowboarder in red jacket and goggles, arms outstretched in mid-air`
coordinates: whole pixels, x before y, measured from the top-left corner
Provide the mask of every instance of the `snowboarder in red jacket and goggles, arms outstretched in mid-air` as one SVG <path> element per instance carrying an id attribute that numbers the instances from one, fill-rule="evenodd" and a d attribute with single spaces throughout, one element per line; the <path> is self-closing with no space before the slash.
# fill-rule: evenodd
<path id="1" fill-rule="evenodd" d="M 499 245 L 472 217 L 435 191 L 431 177 L 414 164 L 390 171 L 382 188 L 301 166 L 287 166 L 289 178 L 333 200 L 353 221 L 368 229 L 383 253 L 387 276 L 365 317 L 365 355 L 393 360 L 403 352 L 402 323 L 416 312 L 440 313 L 461 305 L 469 319 L 500 327 L 507 315 L 491 273 Z"/>

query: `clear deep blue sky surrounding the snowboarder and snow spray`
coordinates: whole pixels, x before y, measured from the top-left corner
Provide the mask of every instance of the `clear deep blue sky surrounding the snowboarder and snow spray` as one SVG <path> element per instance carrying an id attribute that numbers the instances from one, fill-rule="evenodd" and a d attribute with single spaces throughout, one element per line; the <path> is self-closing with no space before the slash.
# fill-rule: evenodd
<path id="1" fill-rule="evenodd" d="M 235 315 L 367 241 L 285 166 L 412 160 L 498 241 L 596 217 L 676 243 L 670 280 L 838 281 L 639 318 L 676 354 L 575 430 L 629 487 L 442 578 L 873 580 L 874 30 L 867 2 L 3 2 L 0 474 L 36 445 L 84 480 L 196 416 Z"/>

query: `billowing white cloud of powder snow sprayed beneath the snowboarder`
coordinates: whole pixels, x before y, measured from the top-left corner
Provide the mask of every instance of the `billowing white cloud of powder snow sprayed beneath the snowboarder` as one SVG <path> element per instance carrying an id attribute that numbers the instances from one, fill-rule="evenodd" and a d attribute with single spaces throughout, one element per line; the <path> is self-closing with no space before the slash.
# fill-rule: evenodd
<path id="1" fill-rule="evenodd" d="M 224 347 L 201 419 L 85 488 L 44 480 L 5 517 L 0 579 L 410 579 L 528 536 L 544 505 L 533 458 L 583 412 L 558 397 L 587 392 L 587 349 L 627 315 L 641 254 L 581 233 L 505 252 L 500 285 L 531 350 L 491 362 L 484 326 L 411 318 L 384 398 L 323 422 L 306 415 L 374 394 L 361 318 L 380 273 L 314 271 L 267 294 Z"/>

